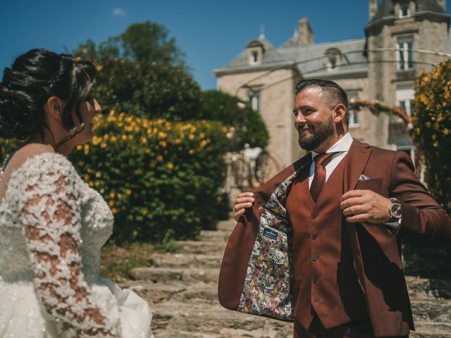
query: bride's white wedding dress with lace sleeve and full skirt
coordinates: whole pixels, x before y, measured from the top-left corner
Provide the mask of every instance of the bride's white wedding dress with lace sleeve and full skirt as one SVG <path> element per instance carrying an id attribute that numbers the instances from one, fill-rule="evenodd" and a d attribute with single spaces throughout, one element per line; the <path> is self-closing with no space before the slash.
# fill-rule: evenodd
<path id="1" fill-rule="evenodd" d="M 147 302 L 99 277 L 112 227 L 64 156 L 14 170 L 0 201 L 0 337 L 152 337 Z"/>

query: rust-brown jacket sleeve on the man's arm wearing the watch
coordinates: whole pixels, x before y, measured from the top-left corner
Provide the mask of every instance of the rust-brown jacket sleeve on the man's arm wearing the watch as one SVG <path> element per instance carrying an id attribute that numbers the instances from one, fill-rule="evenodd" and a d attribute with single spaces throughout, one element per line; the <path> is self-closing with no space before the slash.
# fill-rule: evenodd
<path id="1" fill-rule="evenodd" d="M 402 205 L 396 234 L 415 246 L 440 248 L 451 243 L 451 220 L 414 173 L 412 160 L 398 151 L 393 160 L 390 196 Z"/>

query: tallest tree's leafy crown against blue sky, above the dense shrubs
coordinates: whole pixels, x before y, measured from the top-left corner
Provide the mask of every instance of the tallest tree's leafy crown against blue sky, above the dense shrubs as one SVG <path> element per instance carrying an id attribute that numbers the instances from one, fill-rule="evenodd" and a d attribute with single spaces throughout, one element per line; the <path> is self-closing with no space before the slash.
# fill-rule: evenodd
<path id="1" fill-rule="evenodd" d="M 175 38 L 169 38 L 168 34 L 167 28 L 159 23 L 132 23 L 125 32 L 109 37 L 99 46 L 88 39 L 78 45 L 73 55 L 98 60 L 126 58 L 186 67 L 185 54 L 177 46 Z"/>

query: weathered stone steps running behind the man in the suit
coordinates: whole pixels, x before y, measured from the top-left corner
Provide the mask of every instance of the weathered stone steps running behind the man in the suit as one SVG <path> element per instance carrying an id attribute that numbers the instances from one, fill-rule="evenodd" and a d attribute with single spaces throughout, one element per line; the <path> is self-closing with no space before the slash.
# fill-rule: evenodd
<path id="1" fill-rule="evenodd" d="M 218 303 L 221 259 L 234 221 L 202 231 L 199 242 L 178 242 L 178 253 L 156 253 L 152 268 L 132 270 L 123 284 L 140 294 L 154 313 L 156 338 L 285 338 L 292 323 L 228 311 Z M 451 282 L 407 277 L 416 332 L 412 338 L 451 338 Z"/>

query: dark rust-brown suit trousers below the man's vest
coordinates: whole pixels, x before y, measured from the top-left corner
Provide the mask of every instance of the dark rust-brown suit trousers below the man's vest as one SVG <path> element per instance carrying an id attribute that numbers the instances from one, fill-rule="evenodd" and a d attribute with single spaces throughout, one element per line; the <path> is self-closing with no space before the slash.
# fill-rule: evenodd
<path id="1" fill-rule="evenodd" d="M 408 338 L 409 336 L 394 336 L 384 338 Z M 369 319 L 358 320 L 326 329 L 318 316 L 315 315 L 308 330 L 295 320 L 294 338 L 376 338 Z"/>

